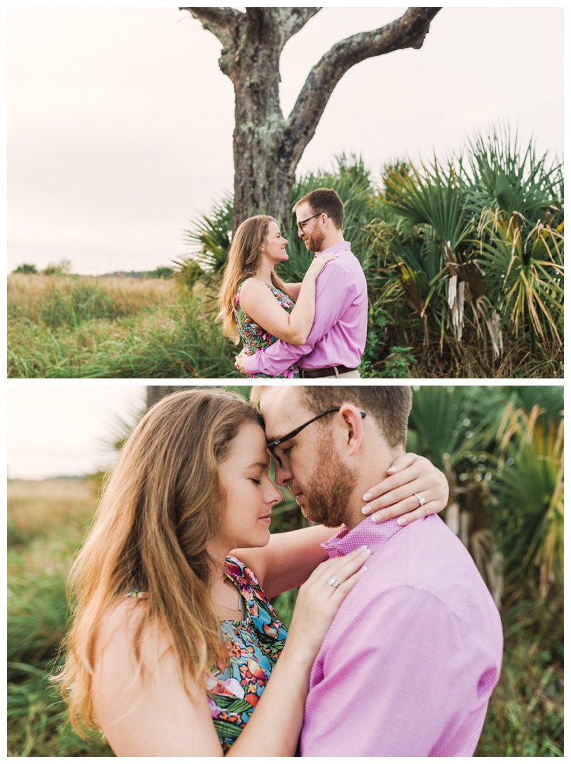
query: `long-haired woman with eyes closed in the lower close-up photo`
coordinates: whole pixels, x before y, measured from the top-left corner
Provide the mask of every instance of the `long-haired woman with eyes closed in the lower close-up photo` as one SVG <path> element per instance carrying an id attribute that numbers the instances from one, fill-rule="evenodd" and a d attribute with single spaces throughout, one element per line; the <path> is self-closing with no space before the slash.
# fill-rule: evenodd
<path id="1" fill-rule="evenodd" d="M 441 474 L 417 459 L 395 465 L 402 484 L 411 468 L 444 507 Z M 268 471 L 260 413 L 235 393 L 173 393 L 141 419 L 69 579 L 57 679 L 80 733 L 118 756 L 295 754 L 312 662 L 368 550 L 322 562 L 331 529 L 270 537 Z M 296 586 L 286 639 L 269 597 Z"/>

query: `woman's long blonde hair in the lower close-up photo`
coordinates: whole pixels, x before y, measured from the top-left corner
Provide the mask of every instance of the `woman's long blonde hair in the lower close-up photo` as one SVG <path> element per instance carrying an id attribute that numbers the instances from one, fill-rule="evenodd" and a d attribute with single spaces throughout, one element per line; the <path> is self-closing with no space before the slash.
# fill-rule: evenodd
<path id="1" fill-rule="evenodd" d="M 98 729 L 91 697 L 98 625 L 129 591 L 149 594 L 132 601 L 142 610 L 133 644 L 141 671 L 151 623 L 168 630 L 182 676 L 201 682 L 215 662 L 227 662 L 206 545 L 225 513 L 218 466 L 249 422 L 261 425 L 261 416 L 237 393 L 184 390 L 156 403 L 123 446 L 68 581 L 73 626 L 56 681 L 80 734 Z"/>

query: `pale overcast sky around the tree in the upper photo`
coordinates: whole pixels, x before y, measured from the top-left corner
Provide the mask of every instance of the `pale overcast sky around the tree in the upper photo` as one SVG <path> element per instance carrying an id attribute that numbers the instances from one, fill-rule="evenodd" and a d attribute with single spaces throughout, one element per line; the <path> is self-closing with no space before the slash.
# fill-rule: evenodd
<path id="1" fill-rule="evenodd" d="M 282 109 L 334 42 L 404 8 L 325 8 L 286 45 Z M 177 8 L 8 10 L 8 271 L 151 270 L 233 185 L 234 92 L 220 44 Z M 298 170 L 373 172 L 507 123 L 563 159 L 563 9 L 444 8 L 421 50 L 353 67 Z M 260 210 L 273 214 L 273 210 Z"/>

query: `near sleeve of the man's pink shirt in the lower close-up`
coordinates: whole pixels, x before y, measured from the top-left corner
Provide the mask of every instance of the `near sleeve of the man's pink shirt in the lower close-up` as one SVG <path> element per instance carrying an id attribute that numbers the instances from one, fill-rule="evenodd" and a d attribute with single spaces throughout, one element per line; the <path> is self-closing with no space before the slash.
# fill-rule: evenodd
<path id="1" fill-rule="evenodd" d="M 384 592 L 357 620 L 342 607 L 312 671 L 302 756 L 469 756 L 486 715 L 486 667 L 432 594 Z"/>

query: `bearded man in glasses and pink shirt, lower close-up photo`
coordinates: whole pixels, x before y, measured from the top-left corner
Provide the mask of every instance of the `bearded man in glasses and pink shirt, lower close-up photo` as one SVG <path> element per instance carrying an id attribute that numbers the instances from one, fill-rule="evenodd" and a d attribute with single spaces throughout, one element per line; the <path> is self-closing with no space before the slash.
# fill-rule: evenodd
<path id="1" fill-rule="evenodd" d="M 276 481 L 310 520 L 346 526 L 324 544 L 330 557 L 372 552 L 315 660 L 302 756 L 471 756 L 502 665 L 498 609 L 438 516 L 404 527 L 363 519 L 363 491 L 405 451 L 410 388 L 256 395 Z M 406 490 L 424 503 L 421 486 Z"/>

